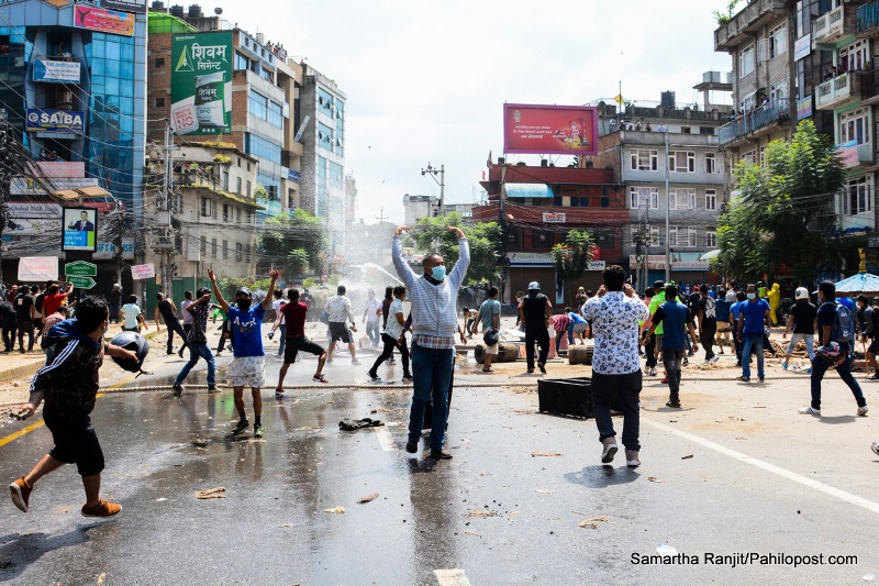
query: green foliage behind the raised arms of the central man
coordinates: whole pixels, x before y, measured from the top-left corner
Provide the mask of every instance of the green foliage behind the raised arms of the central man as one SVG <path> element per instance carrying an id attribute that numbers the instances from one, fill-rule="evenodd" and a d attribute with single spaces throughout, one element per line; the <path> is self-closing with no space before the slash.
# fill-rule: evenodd
<path id="1" fill-rule="evenodd" d="M 458 261 L 458 240 L 448 226 L 455 225 L 464 231 L 470 246 L 470 266 L 467 269 L 467 285 L 498 283 L 501 277 L 500 258 L 501 226 L 497 222 L 480 222 L 463 226 L 461 217 L 452 212 L 443 218 L 422 218 L 412 228 L 410 242 L 421 252 L 438 252 L 446 266 L 453 267 Z"/>

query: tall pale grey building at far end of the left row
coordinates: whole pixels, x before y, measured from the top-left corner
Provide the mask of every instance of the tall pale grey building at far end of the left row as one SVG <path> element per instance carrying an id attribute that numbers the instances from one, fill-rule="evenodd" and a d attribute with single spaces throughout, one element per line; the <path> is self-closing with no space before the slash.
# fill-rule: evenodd
<path id="1" fill-rule="evenodd" d="M 345 93 L 305 65 L 297 117 L 304 145 L 299 206 L 326 221 L 330 252 L 345 250 Z"/>

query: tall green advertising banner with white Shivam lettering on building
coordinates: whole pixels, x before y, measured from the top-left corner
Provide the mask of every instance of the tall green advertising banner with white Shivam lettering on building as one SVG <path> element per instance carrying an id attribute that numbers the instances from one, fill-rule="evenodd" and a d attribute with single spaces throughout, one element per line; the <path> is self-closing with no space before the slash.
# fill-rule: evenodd
<path id="1" fill-rule="evenodd" d="M 177 134 L 232 131 L 232 31 L 171 38 L 171 128 Z"/>

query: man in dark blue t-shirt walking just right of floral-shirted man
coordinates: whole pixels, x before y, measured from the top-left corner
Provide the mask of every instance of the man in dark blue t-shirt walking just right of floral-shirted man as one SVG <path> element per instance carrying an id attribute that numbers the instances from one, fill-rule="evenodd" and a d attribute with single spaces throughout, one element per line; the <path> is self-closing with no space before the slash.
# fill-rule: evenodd
<path id="1" fill-rule="evenodd" d="M 693 322 L 690 320 L 690 310 L 677 298 L 678 287 L 668 285 L 666 287 L 666 302 L 656 308 L 652 319 L 653 324 L 644 333 L 643 340 L 646 342 L 656 331 L 656 328 L 664 323 L 663 364 L 666 367 L 669 390 L 666 407 L 680 409 L 680 372 L 687 352 L 687 330 L 689 329 L 693 340 L 696 340 L 696 330 L 693 330 Z M 699 344 L 693 343 L 692 347 L 698 351 Z"/>

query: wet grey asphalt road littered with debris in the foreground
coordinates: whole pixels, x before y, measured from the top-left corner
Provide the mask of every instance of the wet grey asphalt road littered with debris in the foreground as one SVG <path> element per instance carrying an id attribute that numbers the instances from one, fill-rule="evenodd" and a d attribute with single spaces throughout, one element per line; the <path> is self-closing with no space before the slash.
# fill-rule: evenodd
<path id="1" fill-rule="evenodd" d="M 137 384 L 167 385 L 182 364 L 168 357 Z M 455 457 L 433 463 L 425 453 L 403 451 L 410 390 L 308 388 L 276 401 L 270 389 L 280 363 L 267 364 L 263 441 L 252 433 L 230 438 L 236 416 L 229 390 L 209 396 L 193 386 L 180 398 L 167 391 L 101 397 L 92 418 L 108 462 L 102 491 L 122 504 L 122 513 L 85 519 L 76 471 L 45 477 L 29 513 L 3 505 L 0 582 L 863 584 L 865 575 L 879 575 L 877 458 L 845 456 L 859 464 L 838 475 L 821 466 L 834 454 L 834 440 L 822 435 L 843 425 L 812 425 L 803 438 L 783 425 L 760 428 L 752 439 L 775 443 L 736 442 L 716 425 L 676 428 L 678 416 L 661 407 L 661 394 L 645 391 L 644 465 L 627 469 L 621 452 L 605 467 L 592 420 L 537 414 L 536 392 L 523 388 L 460 383 L 447 441 Z M 293 365 L 288 383 L 309 380 L 313 364 L 309 357 Z M 342 355 L 327 377 L 363 383 L 365 371 Z M 203 366 L 194 375 L 203 377 Z M 779 385 L 771 394 L 780 391 Z M 771 400 L 767 392 L 770 407 Z M 345 417 L 388 425 L 343 432 L 337 423 Z M 794 419 L 791 424 L 809 423 Z M 9 423 L 0 434 L 22 428 Z M 790 467 L 866 505 L 750 465 L 696 436 Z M 797 455 L 800 441 L 806 454 Z M 49 434 L 38 427 L 0 447 L 0 469 L 11 480 L 48 447 Z M 802 468 L 821 450 L 826 453 L 814 466 L 805 464 L 817 472 Z M 694 457 L 681 460 L 689 454 Z M 196 499 L 193 491 L 214 487 L 224 487 L 225 498 Z M 357 504 L 372 493 L 378 498 Z M 346 512 L 324 512 L 334 507 Z M 600 518 L 596 528 L 579 526 L 591 518 Z M 697 555 L 699 564 L 632 563 L 633 554 L 656 554 L 663 542 Z M 732 567 L 706 565 L 708 552 L 823 554 L 825 561 L 854 554 L 858 562 Z M 437 577 L 435 571 L 458 572 Z"/>

